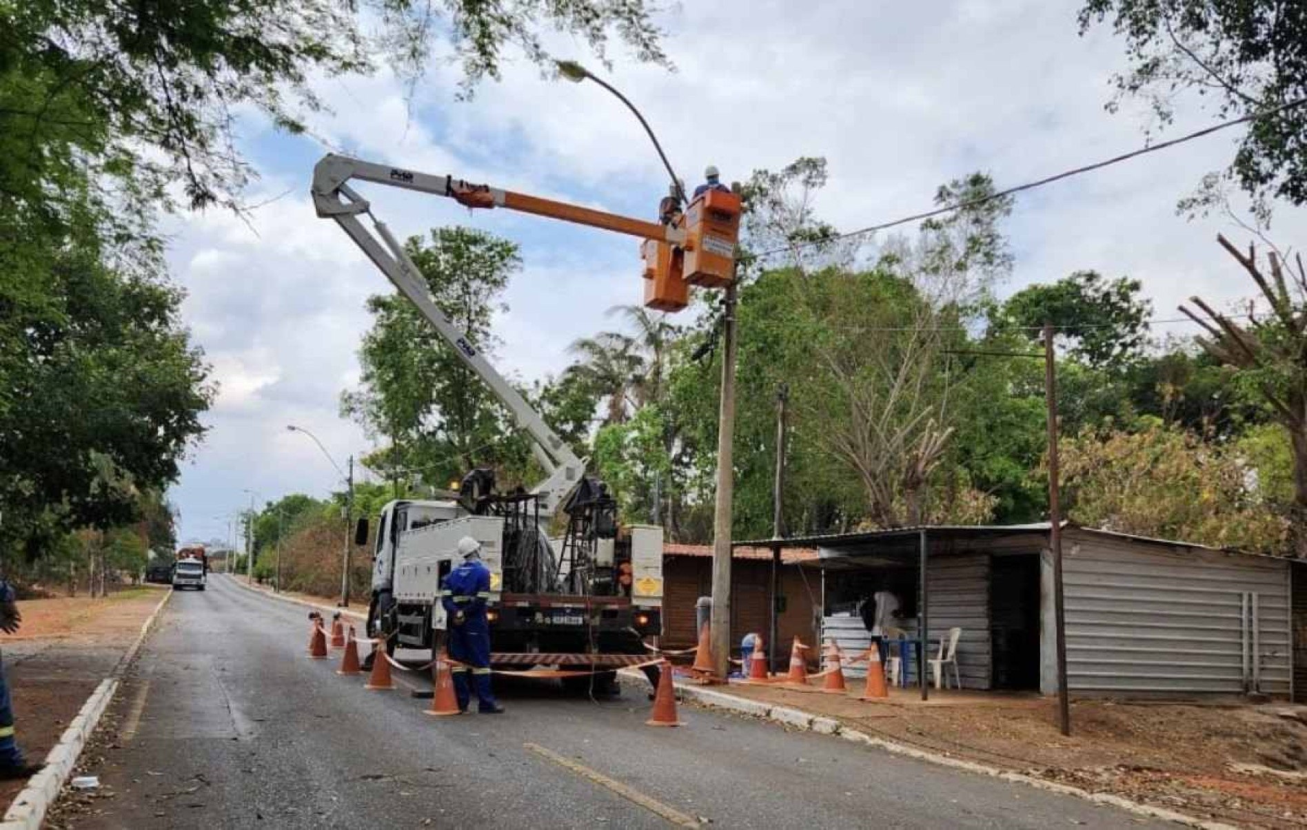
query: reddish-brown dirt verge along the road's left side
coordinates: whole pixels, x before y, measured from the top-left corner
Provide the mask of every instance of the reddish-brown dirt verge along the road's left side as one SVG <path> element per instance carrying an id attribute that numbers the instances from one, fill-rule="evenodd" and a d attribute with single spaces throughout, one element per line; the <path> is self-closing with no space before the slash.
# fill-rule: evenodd
<path id="1" fill-rule="evenodd" d="M 46 757 L 166 591 L 142 586 L 105 599 L 18 600 L 22 628 L 17 634 L 0 634 L 0 655 L 18 745 L 30 761 Z M 24 782 L 0 782 L 0 804 L 8 805 L 22 787 Z"/>

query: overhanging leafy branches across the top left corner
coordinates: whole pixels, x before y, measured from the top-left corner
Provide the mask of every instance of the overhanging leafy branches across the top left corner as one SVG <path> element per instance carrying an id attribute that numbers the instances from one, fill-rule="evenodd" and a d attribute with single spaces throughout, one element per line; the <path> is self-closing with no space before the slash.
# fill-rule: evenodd
<path id="1" fill-rule="evenodd" d="M 179 183 L 192 206 L 239 202 L 251 175 L 239 111 L 302 132 L 323 108 L 318 77 L 384 61 L 412 85 L 452 57 L 471 94 L 514 52 L 552 67 L 553 34 L 600 59 L 616 34 L 637 60 L 668 63 L 642 0 L 33 0 L 0 5 L 0 136 L 26 142 L 4 154 L 16 175 L 0 174 L 0 188 L 42 181 L 51 163 L 90 164 L 93 180 L 127 184 L 142 204 Z"/>

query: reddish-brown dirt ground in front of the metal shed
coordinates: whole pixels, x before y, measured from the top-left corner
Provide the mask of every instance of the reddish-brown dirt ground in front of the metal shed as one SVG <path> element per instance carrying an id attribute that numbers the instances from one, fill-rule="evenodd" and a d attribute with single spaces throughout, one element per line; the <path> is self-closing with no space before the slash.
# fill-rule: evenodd
<path id="1" fill-rule="evenodd" d="M 932 689 L 933 701 L 923 705 L 915 689 L 895 689 L 890 702 L 822 694 L 816 686 L 732 685 L 728 692 L 1191 816 L 1253 827 L 1307 826 L 1307 706 L 1072 701 L 1072 736 L 1063 737 L 1056 699 L 1038 696 Z"/>

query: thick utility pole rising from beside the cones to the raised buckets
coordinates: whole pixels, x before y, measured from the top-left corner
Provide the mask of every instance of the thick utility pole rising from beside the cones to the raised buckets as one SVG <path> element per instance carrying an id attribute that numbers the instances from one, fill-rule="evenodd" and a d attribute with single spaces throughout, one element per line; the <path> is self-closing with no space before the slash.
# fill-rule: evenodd
<path id="1" fill-rule="evenodd" d="M 721 402 L 718 411 L 718 492 L 712 514 L 712 656 L 716 675 L 731 669 L 731 500 L 735 495 L 736 281 L 727 286 L 721 317 Z"/>

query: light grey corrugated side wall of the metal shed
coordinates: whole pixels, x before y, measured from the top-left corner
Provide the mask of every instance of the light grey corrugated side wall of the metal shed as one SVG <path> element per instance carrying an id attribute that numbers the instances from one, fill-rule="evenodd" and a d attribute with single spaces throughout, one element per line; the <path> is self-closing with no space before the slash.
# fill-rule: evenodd
<path id="1" fill-rule="evenodd" d="M 1068 688 L 1287 694 L 1287 560 L 1068 531 Z"/>

